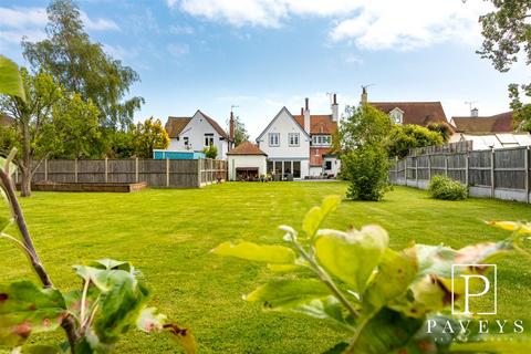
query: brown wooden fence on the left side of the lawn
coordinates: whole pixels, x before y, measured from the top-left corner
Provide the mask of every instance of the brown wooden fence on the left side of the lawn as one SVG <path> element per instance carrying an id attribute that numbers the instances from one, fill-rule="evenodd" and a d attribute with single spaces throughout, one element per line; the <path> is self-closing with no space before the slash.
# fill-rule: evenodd
<path id="1" fill-rule="evenodd" d="M 216 159 L 45 159 L 32 183 L 134 184 L 198 188 L 227 177 L 227 163 Z M 15 174 L 20 183 L 20 171 Z"/>

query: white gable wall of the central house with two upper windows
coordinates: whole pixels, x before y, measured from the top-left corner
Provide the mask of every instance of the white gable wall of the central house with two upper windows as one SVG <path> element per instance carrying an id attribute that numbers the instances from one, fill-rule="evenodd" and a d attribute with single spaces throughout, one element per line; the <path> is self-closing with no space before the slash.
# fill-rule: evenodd
<path id="1" fill-rule="evenodd" d="M 279 146 L 269 145 L 269 133 L 280 134 Z M 290 133 L 299 133 L 299 146 L 289 145 L 288 134 Z M 280 111 L 274 122 L 259 136 L 257 143 L 260 149 L 268 154 L 268 159 L 300 160 L 301 177 L 309 176 L 310 138 L 285 107 Z"/>

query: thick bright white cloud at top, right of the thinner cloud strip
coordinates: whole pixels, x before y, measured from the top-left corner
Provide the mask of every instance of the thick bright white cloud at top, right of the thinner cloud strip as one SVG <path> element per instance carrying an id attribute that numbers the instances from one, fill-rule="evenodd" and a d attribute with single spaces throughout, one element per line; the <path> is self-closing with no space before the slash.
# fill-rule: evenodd
<path id="1" fill-rule="evenodd" d="M 355 15 L 337 22 L 334 41 L 348 40 L 363 49 L 409 50 L 445 41 L 475 43 L 483 2 L 461 0 L 402 0 L 360 2 Z"/>

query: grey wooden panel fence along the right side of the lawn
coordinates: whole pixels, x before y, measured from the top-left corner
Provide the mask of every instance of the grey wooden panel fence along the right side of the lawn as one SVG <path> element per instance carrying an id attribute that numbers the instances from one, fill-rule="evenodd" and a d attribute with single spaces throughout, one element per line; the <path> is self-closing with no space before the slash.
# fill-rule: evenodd
<path id="1" fill-rule="evenodd" d="M 472 197 L 530 202 L 528 146 L 409 155 L 392 160 L 389 180 L 427 189 L 433 176 L 445 175 L 469 187 Z"/>

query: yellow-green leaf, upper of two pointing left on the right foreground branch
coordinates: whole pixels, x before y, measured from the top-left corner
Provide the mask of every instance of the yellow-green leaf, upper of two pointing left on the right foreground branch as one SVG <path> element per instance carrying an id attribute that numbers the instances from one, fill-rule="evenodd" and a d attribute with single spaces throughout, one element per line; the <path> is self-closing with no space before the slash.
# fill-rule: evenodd
<path id="1" fill-rule="evenodd" d="M 295 252 L 284 246 L 257 244 L 252 242 L 232 244 L 231 242 L 223 242 L 211 252 L 223 257 L 236 257 L 267 263 L 292 264 L 295 261 Z"/>

